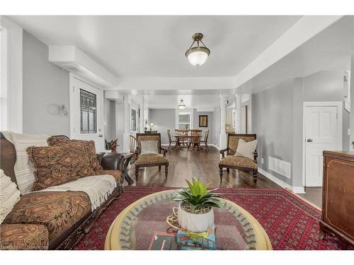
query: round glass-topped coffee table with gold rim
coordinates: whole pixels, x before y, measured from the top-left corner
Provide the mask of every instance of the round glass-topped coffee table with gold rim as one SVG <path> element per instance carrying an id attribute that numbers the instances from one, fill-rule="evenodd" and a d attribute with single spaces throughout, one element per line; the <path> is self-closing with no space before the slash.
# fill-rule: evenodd
<path id="1" fill-rule="evenodd" d="M 113 221 L 105 238 L 105 249 L 141 249 L 151 247 L 156 235 L 176 232 L 168 223 L 176 190 L 156 192 L 127 206 Z M 217 249 L 272 249 L 267 233 L 249 212 L 227 199 L 222 208 L 214 208 Z"/>

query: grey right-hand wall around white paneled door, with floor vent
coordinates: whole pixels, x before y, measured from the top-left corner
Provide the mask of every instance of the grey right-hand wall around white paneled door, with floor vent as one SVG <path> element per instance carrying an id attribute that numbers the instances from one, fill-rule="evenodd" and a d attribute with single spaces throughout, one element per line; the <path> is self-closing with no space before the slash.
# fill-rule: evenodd
<path id="1" fill-rule="evenodd" d="M 252 126 L 258 134 L 258 165 L 294 187 L 302 186 L 304 102 L 343 101 L 343 71 L 294 78 L 253 95 Z M 343 110 L 343 150 L 348 150 L 349 114 Z M 268 156 L 292 163 L 292 179 L 268 170 Z M 261 164 L 264 158 L 264 164 Z"/>

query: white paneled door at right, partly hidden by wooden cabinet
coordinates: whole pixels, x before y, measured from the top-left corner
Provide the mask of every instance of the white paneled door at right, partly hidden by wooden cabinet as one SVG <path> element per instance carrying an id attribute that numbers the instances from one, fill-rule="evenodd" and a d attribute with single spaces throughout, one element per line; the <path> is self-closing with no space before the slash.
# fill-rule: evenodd
<path id="1" fill-rule="evenodd" d="M 304 107 L 305 184 L 306 187 L 321 187 L 324 150 L 341 148 L 341 125 L 338 121 L 338 106 Z"/>

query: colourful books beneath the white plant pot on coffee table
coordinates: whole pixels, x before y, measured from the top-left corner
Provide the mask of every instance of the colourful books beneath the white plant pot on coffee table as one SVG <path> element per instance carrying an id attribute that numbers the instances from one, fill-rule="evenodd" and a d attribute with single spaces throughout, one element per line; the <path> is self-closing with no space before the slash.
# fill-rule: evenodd
<path id="1" fill-rule="evenodd" d="M 183 250 L 216 249 L 215 227 L 213 226 L 207 232 L 190 232 L 180 229 L 177 232 L 177 243 L 181 244 Z"/>

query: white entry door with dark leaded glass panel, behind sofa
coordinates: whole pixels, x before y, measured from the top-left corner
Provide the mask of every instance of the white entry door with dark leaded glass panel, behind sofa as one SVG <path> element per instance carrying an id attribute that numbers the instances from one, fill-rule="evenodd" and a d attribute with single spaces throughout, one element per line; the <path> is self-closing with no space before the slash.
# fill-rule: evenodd
<path id="1" fill-rule="evenodd" d="M 75 76 L 70 86 L 71 138 L 95 141 L 96 152 L 104 152 L 103 90 Z"/>

